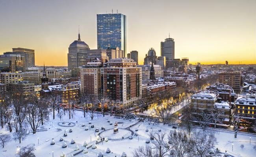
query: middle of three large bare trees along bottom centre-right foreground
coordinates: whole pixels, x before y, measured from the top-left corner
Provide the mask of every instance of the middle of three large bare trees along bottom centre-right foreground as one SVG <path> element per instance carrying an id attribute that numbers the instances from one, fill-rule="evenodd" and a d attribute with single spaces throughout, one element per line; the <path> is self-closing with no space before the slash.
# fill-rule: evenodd
<path id="1" fill-rule="evenodd" d="M 170 131 L 168 136 L 170 152 L 174 157 L 188 157 L 192 148 L 191 138 L 183 131 Z"/>

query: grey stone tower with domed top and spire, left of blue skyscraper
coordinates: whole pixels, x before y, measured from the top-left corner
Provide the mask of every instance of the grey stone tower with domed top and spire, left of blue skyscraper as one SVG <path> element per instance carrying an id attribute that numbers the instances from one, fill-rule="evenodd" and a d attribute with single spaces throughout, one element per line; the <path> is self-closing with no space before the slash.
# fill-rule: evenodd
<path id="1" fill-rule="evenodd" d="M 78 40 L 74 40 L 69 45 L 68 53 L 68 67 L 69 69 L 78 68 L 86 64 L 86 53 L 89 50 L 89 46 L 83 42 L 78 33 Z"/>

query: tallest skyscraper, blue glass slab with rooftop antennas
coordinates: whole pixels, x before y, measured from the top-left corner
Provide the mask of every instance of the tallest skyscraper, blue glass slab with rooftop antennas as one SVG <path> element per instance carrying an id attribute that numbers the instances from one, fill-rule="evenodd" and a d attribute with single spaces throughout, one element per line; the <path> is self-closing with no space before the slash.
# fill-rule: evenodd
<path id="1" fill-rule="evenodd" d="M 126 15 L 97 14 L 97 45 L 98 49 L 117 46 L 126 57 Z"/>

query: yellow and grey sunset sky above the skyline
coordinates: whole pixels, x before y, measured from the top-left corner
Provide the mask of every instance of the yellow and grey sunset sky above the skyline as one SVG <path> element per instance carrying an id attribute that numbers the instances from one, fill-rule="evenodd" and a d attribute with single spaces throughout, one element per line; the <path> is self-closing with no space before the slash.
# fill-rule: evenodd
<path id="1" fill-rule="evenodd" d="M 35 50 L 35 64 L 67 66 L 78 38 L 97 48 L 96 14 L 126 15 L 127 53 L 143 64 L 150 47 L 175 41 L 175 58 L 191 64 L 256 64 L 256 0 L 0 0 L 0 54 Z"/>

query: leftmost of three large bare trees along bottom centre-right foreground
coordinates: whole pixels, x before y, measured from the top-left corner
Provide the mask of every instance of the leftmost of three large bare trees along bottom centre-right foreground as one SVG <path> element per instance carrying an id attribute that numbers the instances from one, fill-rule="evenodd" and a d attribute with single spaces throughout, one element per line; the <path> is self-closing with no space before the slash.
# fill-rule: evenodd
<path id="1" fill-rule="evenodd" d="M 152 145 L 137 148 L 133 154 L 134 157 L 168 157 L 170 148 L 165 141 L 166 133 L 150 133 Z"/>

